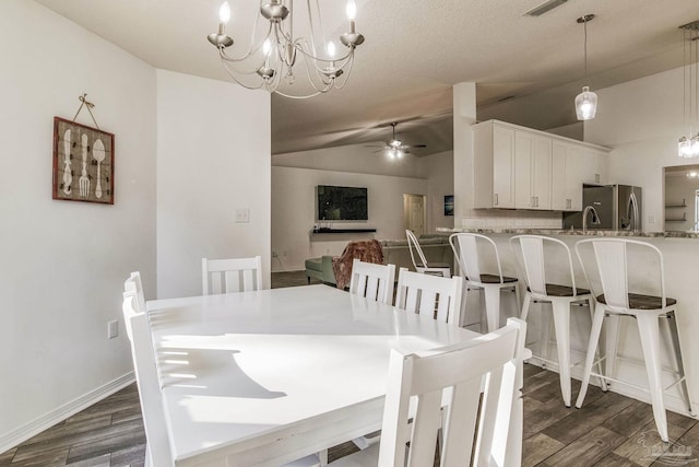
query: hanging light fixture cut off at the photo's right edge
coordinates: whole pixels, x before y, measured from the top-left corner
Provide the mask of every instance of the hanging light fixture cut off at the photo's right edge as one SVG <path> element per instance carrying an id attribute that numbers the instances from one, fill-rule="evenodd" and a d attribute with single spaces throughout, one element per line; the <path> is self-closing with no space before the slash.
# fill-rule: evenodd
<path id="1" fill-rule="evenodd" d="M 686 135 L 677 142 L 677 155 L 680 157 L 699 156 L 699 21 L 694 21 L 679 26 L 684 31 L 683 36 L 683 118 Z M 689 43 L 689 47 L 687 47 Z M 694 65 L 692 65 L 694 62 Z M 689 79 L 687 79 L 689 78 Z M 687 98 L 689 91 L 689 98 Z M 689 121 L 689 124 L 687 124 Z M 694 133 L 694 137 L 692 137 Z"/>

